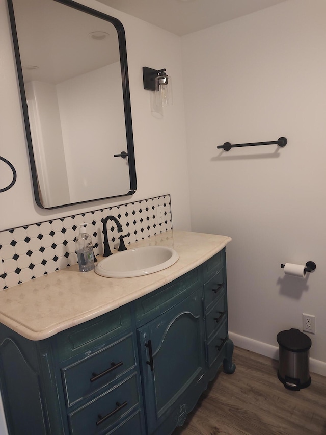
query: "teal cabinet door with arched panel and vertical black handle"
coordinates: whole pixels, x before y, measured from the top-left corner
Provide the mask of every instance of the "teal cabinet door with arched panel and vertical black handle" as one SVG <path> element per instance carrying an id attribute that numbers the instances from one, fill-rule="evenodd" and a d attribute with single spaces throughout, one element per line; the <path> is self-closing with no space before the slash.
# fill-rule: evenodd
<path id="1" fill-rule="evenodd" d="M 153 433 L 180 405 L 187 407 L 178 399 L 204 373 L 202 311 L 198 289 L 138 329 L 148 433 Z M 192 402 L 189 397 L 189 403 Z"/>

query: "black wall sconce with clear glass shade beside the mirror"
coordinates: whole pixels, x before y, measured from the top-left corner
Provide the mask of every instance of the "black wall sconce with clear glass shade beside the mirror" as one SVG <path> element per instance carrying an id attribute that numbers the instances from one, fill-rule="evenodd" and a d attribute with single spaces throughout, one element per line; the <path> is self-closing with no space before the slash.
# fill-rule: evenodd
<path id="1" fill-rule="evenodd" d="M 173 103 L 171 77 L 165 71 L 165 68 L 143 67 L 144 89 L 155 92 L 154 95 L 151 95 L 151 110 L 161 115 L 163 114 L 163 106 L 172 105 Z"/>

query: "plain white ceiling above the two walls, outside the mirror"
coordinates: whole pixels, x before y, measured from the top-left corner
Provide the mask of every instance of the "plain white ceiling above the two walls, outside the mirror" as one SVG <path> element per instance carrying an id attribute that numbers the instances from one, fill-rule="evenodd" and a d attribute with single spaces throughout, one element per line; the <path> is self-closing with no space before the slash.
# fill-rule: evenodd
<path id="1" fill-rule="evenodd" d="M 186 35 L 286 0 L 99 0 L 104 5 Z"/>

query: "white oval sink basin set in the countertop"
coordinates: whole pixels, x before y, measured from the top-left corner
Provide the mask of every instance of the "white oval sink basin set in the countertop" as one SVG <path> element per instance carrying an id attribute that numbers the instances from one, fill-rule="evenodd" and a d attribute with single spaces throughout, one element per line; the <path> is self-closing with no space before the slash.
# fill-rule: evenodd
<path id="1" fill-rule="evenodd" d="M 104 258 L 95 266 L 95 272 L 107 278 L 131 278 L 166 269 L 178 259 L 179 254 L 172 248 L 144 246 Z"/>

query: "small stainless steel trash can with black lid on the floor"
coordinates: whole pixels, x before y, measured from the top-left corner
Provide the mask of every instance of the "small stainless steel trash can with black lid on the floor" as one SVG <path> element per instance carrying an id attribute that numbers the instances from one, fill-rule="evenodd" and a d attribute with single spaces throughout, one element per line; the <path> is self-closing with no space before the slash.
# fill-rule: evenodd
<path id="1" fill-rule="evenodd" d="M 279 332 L 276 339 L 279 343 L 279 380 L 289 390 L 309 387 L 310 338 L 300 330 L 291 328 Z"/>

